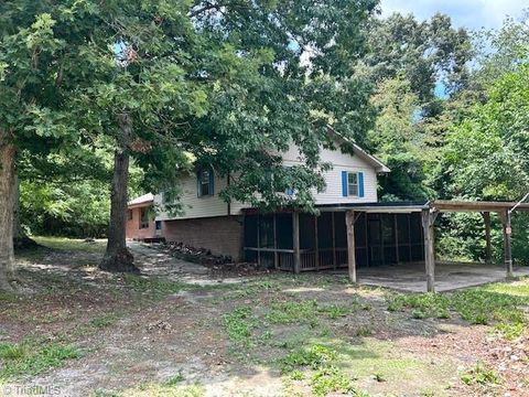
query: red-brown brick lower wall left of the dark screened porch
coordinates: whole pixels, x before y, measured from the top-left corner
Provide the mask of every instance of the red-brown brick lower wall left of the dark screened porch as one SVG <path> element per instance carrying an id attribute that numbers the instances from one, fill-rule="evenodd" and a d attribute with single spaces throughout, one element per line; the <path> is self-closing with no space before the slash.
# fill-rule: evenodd
<path id="1" fill-rule="evenodd" d="M 163 236 L 168 242 L 209 249 L 215 255 L 242 255 L 242 217 L 217 216 L 195 219 L 165 221 Z"/>

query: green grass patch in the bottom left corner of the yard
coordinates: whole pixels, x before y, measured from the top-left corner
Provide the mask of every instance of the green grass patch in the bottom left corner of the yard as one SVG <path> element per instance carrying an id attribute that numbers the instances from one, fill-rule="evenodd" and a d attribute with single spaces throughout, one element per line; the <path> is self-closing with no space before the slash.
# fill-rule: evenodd
<path id="1" fill-rule="evenodd" d="M 82 352 L 68 344 L 42 341 L 4 342 L 0 344 L 0 379 L 37 375 L 80 356 Z"/>

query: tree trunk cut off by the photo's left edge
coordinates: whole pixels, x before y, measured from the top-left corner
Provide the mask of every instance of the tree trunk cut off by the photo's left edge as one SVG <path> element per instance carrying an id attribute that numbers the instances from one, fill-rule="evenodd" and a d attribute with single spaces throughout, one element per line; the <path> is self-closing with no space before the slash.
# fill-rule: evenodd
<path id="1" fill-rule="evenodd" d="M 8 133 L 0 129 L 0 290 L 11 290 L 14 278 L 13 205 L 14 154 Z"/>

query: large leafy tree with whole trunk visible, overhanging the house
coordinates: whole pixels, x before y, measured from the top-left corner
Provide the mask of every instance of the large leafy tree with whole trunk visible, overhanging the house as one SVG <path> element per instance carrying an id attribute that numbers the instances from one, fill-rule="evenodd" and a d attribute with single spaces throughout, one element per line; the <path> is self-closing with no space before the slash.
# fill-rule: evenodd
<path id="1" fill-rule="evenodd" d="M 154 150 L 190 152 L 197 167 L 230 175 L 226 201 L 278 205 L 278 185 L 289 184 L 310 207 L 310 189 L 323 187 L 317 149 L 330 140 L 327 125 L 365 137 L 369 90 L 353 72 L 374 1 L 116 3 L 98 4 L 104 23 L 86 47 L 93 77 L 78 99 L 90 109 L 87 128 L 98 125 L 117 142 L 102 268 L 130 268 L 129 154 L 152 165 Z M 273 153 L 291 143 L 306 165 L 285 172 Z M 262 183 L 271 174 L 274 183 Z"/>

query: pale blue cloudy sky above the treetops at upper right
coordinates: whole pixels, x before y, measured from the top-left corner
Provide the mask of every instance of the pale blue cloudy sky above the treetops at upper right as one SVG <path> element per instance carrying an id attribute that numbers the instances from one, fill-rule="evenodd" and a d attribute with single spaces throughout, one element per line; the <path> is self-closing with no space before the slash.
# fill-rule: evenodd
<path id="1" fill-rule="evenodd" d="M 499 28 L 507 15 L 515 19 L 529 8 L 528 0 L 381 0 L 382 15 L 413 13 L 423 20 L 440 11 L 456 26 L 473 30 Z"/>

